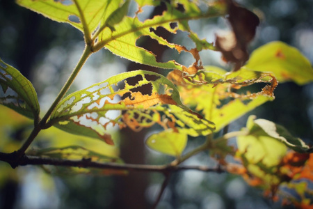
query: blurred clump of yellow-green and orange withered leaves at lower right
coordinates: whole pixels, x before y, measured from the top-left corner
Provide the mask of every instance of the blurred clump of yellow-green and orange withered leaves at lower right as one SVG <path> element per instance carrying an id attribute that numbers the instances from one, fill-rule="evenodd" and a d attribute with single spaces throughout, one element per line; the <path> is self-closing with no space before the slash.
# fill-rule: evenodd
<path id="1" fill-rule="evenodd" d="M 265 189 L 265 194 L 272 198 L 276 196 L 278 189 L 282 189 L 280 185 L 298 190 L 297 195 L 304 194 L 307 187 L 300 187 L 298 180 L 306 178 L 312 181 L 312 167 L 307 169 L 312 154 L 294 152 L 307 152 L 308 147 L 281 127 L 276 128 L 277 125 L 270 121 L 255 120 L 255 116 L 248 118 L 248 134 L 237 137 L 236 156 L 247 169 L 241 175 L 250 185 Z M 294 150 L 287 151 L 287 146 Z M 280 192 L 284 192 L 284 189 Z"/>

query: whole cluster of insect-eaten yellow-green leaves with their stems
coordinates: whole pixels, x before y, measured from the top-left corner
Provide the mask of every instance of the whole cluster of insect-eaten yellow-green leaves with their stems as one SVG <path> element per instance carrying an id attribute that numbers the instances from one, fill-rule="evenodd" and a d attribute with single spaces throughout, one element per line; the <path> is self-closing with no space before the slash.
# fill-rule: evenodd
<path id="1" fill-rule="evenodd" d="M 13 66 L 0 60 L 1 104 L 31 118 L 34 123 L 22 147 L 11 155 L 1 155 L 1 160 L 14 162 L 11 164 L 13 167 L 27 163 L 54 163 L 86 167 L 83 172 L 124 175 L 127 169 L 134 167 L 127 167 L 127 164 L 120 167 L 123 162 L 118 155 L 109 154 L 109 147 L 117 144 L 110 130 L 113 127 L 129 127 L 138 131 L 159 125 L 163 130 L 148 137 L 146 144 L 153 150 L 174 156 L 175 160 L 164 167 L 143 169 L 139 165 L 138 169 L 150 168 L 150 171 L 166 173 L 189 157 L 209 150 L 211 157 L 225 171 L 243 176 L 250 185 L 263 187 L 273 199 L 283 185 L 296 189 L 302 197 L 300 201 L 290 198 L 288 201 L 312 204 L 306 198 L 306 194 L 312 194 L 312 189 L 303 181 L 312 180 L 308 175 L 313 169 L 312 148 L 293 137 L 281 125 L 250 117 L 247 127 L 239 132 L 225 133 L 214 139 L 216 133 L 236 118 L 264 102 L 274 100 L 274 91 L 279 82 L 303 85 L 313 81 L 310 61 L 283 42 L 268 43 L 256 49 L 249 59 L 248 44 L 259 24 L 259 18 L 250 10 L 234 1 L 137 0 L 138 10 L 134 17 L 129 17 L 129 0 L 17 0 L 17 3 L 51 20 L 79 29 L 83 33 L 86 48 L 72 75 L 42 118 L 31 82 Z M 160 3 L 166 5 L 166 11 L 161 15 L 144 21 L 138 19 L 144 6 L 157 6 Z M 189 26 L 190 20 L 224 16 L 227 16 L 232 31 L 227 36 L 216 36 L 215 43 L 200 39 Z M 166 40 L 155 33 L 159 27 L 172 36 L 177 31 L 188 33 L 195 47 L 188 49 Z M 138 47 L 137 40 L 143 36 L 178 53 L 191 54 L 194 62 L 186 66 L 174 60 L 157 61 L 155 54 Z M 147 70 L 123 72 L 65 97 L 88 57 L 102 48 L 129 61 L 161 68 L 167 76 Z M 203 66 L 204 58 L 200 56 L 202 50 L 220 52 L 233 69 L 228 72 L 215 66 Z M 255 84 L 263 84 L 264 87 L 258 90 L 250 88 Z M 105 148 L 99 150 L 95 146 L 81 146 L 79 140 L 62 145 L 60 141 L 51 139 L 52 146 L 31 150 L 26 153 L 29 158 L 25 158 L 24 154 L 35 137 L 42 134 L 42 130 L 51 130 L 51 126 L 88 137 L 83 139 L 86 141 L 92 141 L 90 138 L 100 139 L 99 143 L 105 144 Z M 202 136 L 207 140 L 202 146 L 183 154 L 188 136 Z M 227 140 L 232 137 L 236 137 L 238 148 L 227 145 Z M 230 164 L 225 160 L 227 155 L 235 157 L 239 163 Z M 64 164 L 62 160 L 65 160 Z M 109 169 L 99 172 L 88 167 Z"/>

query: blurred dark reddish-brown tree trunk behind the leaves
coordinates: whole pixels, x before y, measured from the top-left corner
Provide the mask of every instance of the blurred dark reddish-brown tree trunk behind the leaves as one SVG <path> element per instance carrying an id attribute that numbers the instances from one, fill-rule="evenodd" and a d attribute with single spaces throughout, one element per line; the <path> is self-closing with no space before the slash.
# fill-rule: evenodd
<path id="1" fill-rule="evenodd" d="M 151 17 L 155 15 L 161 15 L 166 10 L 166 5 L 161 3 L 160 6 L 154 8 Z M 170 38 L 170 33 L 165 29 L 158 28 L 154 33 L 157 33 L 163 38 Z M 167 49 L 163 45 L 159 45 L 156 40 L 150 38 L 144 38 L 141 42 L 141 47 L 152 51 L 157 55 L 157 61 L 161 59 L 163 52 Z M 131 70 L 149 70 L 158 72 L 157 68 L 153 68 L 147 65 L 141 65 L 131 62 L 128 65 L 127 71 Z M 131 82 L 136 82 L 133 80 Z M 150 92 L 149 89 L 138 88 L 143 93 Z M 120 147 L 120 153 L 122 160 L 125 163 L 131 164 L 145 164 L 145 135 L 147 129 L 143 129 L 140 132 L 134 132 L 129 128 L 122 130 L 122 144 Z M 130 171 L 127 176 L 115 177 L 115 194 L 113 201 L 113 208 L 148 208 L 148 203 L 145 200 L 145 190 L 148 185 L 149 173 Z"/>

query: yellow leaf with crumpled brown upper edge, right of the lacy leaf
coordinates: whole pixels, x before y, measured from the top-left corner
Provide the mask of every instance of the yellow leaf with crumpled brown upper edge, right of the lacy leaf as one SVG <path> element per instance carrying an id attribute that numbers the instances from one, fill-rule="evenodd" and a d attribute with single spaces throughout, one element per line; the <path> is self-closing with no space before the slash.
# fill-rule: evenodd
<path id="1" fill-rule="evenodd" d="M 176 70 L 170 72 L 168 78 L 179 86 L 184 104 L 195 107 L 204 118 L 213 121 L 216 131 L 264 102 L 273 100 L 273 91 L 277 86 L 275 77 L 245 69 L 226 72 L 220 68 L 206 67 L 193 77 L 184 76 Z M 269 84 L 257 93 L 244 90 L 256 83 Z"/>

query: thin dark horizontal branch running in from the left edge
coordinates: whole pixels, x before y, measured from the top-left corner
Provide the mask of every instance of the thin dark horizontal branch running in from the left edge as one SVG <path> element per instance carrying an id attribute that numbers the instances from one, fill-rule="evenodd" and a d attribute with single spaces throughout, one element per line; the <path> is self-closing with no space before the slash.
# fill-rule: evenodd
<path id="1" fill-rule="evenodd" d="M 197 170 L 204 172 L 223 172 L 219 167 L 210 168 L 206 166 L 171 166 L 171 165 L 146 165 L 146 164 L 118 164 L 114 162 L 94 162 L 91 159 L 82 160 L 63 160 L 48 157 L 37 157 L 30 155 L 23 155 L 22 158 L 17 159 L 17 153 L 0 153 L 0 161 L 8 162 L 11 167 L 26 165 L 54 165 L 61 167 L 80 167 L 80 168 L 94 168 L 94 169 L 114 169 L 127 171 L 146 171 L 169 173 L 173 171 Z"/>

